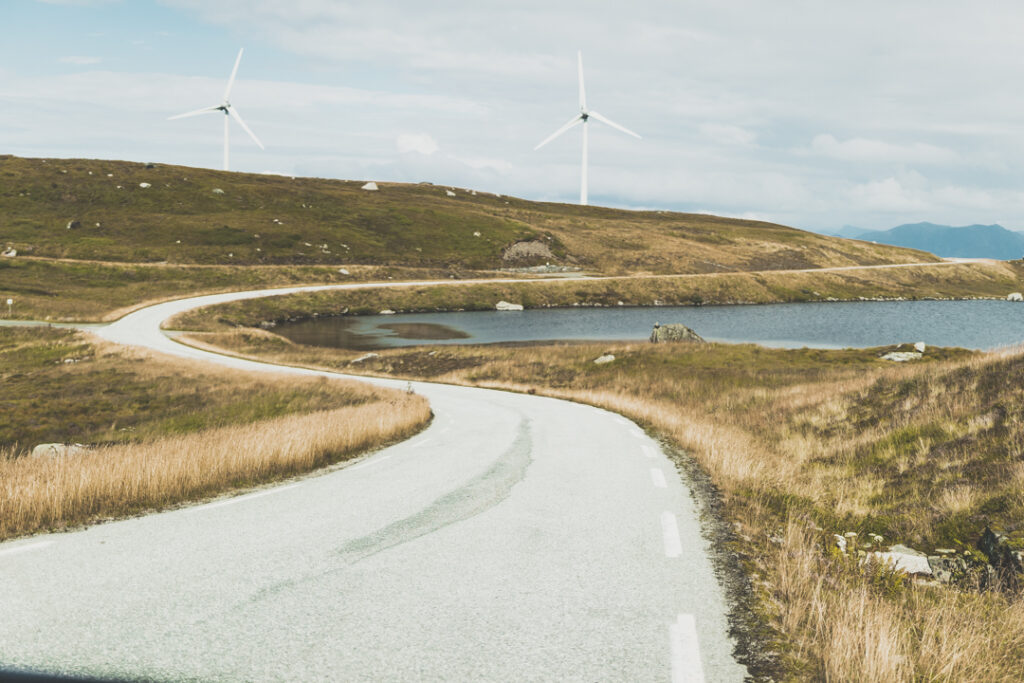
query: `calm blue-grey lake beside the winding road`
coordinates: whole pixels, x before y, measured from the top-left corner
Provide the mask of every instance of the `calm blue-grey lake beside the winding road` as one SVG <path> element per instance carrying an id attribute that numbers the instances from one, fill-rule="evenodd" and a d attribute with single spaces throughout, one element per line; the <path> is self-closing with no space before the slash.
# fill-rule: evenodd
<path id="1" fill-rule="evenodd" d="M 274 332 L 303 344 L 373 349 L 417 344 L 638 340 L 650 335 L 655 322 L 663 325 L 682 323 L 709 341 L 755 342 L 790 348 L 845 348 L 924 341 L 935 346 L 989 349 L 1024 342 L 1024 303 L 1010 301 L 865 301 L 409 313 L 318 318 L 282 325 Z M 465 336 L 437 338 L 451 331 Z M 418 334 L 421 336 L 417 337 Z"/>

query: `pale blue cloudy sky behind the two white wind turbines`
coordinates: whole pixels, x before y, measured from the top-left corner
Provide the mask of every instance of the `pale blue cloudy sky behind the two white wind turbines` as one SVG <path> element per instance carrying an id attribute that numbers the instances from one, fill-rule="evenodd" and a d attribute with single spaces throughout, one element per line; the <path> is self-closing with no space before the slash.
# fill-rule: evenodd
<path id="1" fill-rule="evenodd" d="M 1024 3 L 3 0 L 0 154 L 435 184 L 804 229 L 1024 229 Z M 2 180 L 0 180 L 2 182 Z"/>

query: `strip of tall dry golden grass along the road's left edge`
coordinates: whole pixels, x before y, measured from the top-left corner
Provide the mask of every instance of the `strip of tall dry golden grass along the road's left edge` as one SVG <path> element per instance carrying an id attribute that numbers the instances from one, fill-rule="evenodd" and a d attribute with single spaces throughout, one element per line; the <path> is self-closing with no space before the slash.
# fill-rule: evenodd
<path id="1" fill-rule="evenodd" d="M 68 458 L 0 457 L 0 540 L 309 472 L 408 437 L 429 418 L 425 398 L 394 392 L 389 400 Z"/>

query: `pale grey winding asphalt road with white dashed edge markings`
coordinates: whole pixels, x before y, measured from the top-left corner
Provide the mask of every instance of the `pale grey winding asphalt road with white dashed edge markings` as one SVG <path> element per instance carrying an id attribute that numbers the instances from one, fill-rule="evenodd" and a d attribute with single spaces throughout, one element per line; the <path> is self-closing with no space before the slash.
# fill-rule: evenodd
<path id="1" fill-rule="evenodd" d="M 173 301 L 96 332 L 241 370 L 325 374 L 159 330 L 179 311 L 281 293 Z M 654 441 L 586 405 L 414 387 L 433 408 L 429 429 L 352 466 L 0 544 L 0 667 L 157 680 L 742 680 L 690 493 Z"/>

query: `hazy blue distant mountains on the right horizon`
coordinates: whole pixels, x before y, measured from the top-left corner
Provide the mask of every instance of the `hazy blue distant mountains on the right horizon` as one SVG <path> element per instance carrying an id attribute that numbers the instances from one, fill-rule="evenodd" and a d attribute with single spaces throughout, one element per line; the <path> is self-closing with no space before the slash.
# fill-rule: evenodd
<path id="1" fill-rule="evenodd" d="M 844 225 L 834 234 L 851 240 L 921 249 L 936 256 L 1000 260 L 1024 258 L 1024 234 L 1008 230 L 1001 225 L 953 227 L 935 223 L 907 223 L 889 230 L 865 230 L 854 225 Z"/>

